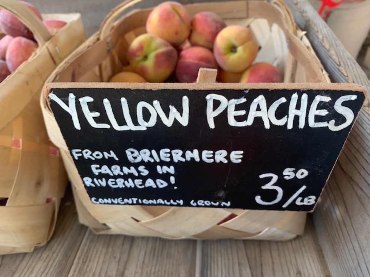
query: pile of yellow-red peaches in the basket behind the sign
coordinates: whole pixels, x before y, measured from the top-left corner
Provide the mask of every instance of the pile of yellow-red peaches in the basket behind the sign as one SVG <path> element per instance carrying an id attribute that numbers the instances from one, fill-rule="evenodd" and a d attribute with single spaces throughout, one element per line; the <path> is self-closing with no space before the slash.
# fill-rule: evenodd
<path id="1" fill-rule="evenodd" d="M 218 82 L 282 82 L 268 62 L 253 63 L 259 45 L 252 30 L 228 25 L 220 16 L 203 11 L 190 18 L 182 4 L 166 1 L 151 11 L 147 33 L 127 50 L 129 65 L 111 82 L 196 81 L 199 68 L 218 69 Z"/>

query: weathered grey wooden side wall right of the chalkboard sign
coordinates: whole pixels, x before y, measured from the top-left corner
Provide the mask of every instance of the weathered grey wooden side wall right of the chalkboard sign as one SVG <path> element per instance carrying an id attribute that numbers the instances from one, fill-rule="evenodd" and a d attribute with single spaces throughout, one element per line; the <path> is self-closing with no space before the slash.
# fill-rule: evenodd
<path id="1" fill-rule="evenodd" d="M 313 8 L 305 0 L 287 3 L 332 81 L 357 83 L 369 91 L 369 79 L 359 64 Z M 314 225 L 332 276 L 370 276 L 369 126 L 367 99 L 314 212 Z"/>

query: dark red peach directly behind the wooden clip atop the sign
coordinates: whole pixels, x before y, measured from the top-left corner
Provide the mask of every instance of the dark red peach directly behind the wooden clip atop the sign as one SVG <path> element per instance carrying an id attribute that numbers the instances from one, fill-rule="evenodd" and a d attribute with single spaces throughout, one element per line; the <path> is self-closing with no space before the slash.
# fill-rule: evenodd
<path id="1" fill-rule="evenodd" d="M 200 46 L 187 48 L 179 54 L 175 71 L 176 78 L 182 83 L 194 83 L 201 67 L 218 68 L 212 51 Z"/>

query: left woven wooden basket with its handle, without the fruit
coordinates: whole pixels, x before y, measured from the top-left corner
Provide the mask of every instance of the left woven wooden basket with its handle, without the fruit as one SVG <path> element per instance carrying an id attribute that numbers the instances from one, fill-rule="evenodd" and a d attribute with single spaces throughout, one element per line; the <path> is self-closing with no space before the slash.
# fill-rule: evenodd
<path id="1" fill-rule="evenodd" d="M 0 254 L 8 254 L 31 252 L 53 234 L 68 179 L 48 139 L 39 98 L 50 73 L 85 41 L 85 34 L 77 13 L 44 14 L 44 19 L 68 23 L 51 36 L 18 1 L 1 0 L 0 8 L 19 18 L 38 40 L 30 59 L 0 83 Z"/>

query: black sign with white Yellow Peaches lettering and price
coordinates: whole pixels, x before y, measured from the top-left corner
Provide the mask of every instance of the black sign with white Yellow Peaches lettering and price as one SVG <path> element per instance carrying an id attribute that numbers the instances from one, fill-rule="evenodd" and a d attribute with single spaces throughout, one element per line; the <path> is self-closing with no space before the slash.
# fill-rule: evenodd
<path id="1" fill-rule="evenodd" d="M 95 204 L 312 211 L 365 99 L 344 84 L 51 83 Z"/>

